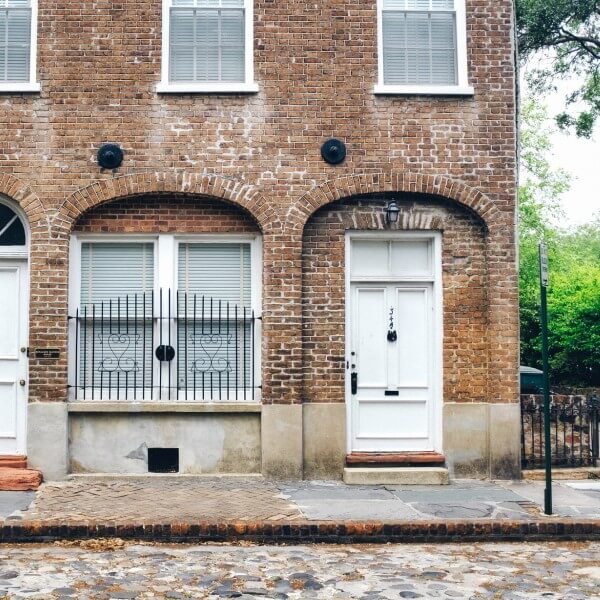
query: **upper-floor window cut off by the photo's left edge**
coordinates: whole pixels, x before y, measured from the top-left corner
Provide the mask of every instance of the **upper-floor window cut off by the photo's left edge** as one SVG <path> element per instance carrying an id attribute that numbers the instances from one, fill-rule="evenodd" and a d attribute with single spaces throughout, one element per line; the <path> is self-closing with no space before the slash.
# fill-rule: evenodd
<path id="1" fill-rule="evenodd" d="M 0 0 L 0 91 L 37 91 L 37 0 Z"/>

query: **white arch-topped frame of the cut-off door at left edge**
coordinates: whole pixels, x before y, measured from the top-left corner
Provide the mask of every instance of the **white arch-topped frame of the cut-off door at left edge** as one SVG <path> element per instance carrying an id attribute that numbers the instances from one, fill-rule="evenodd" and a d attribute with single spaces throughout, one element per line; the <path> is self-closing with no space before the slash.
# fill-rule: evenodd
<path id="1" fill-rule="evenodd" d="M 22 328 L 19 331 L 19 379 L 25 381 L 22 386 L 20 401 L 22 406 L 17 405 L 17 431 L 16 431 L 16 452 L 18 455 L 27 454 L 27 408 L 29 405 L 29 297 L 30 297 L 30 273 L 29 273 L 29 244 L 30 232 L 29 222 L 23 209 L 14 201 L 7 197 L 0 196 L 0 204 L 8 206 L 15 212 L 25 230 L 24 246 L 0 246 L 0 265 L 12 264 L 18 267 L 25 267 L 25 285 L 19 298 L 19 320 Z M 0 310 L 2 307 L 0 307 Z M 22 312 L 21 312 L 22 311 Z M 21 386 L 19 386 L 21 387 Z"/>

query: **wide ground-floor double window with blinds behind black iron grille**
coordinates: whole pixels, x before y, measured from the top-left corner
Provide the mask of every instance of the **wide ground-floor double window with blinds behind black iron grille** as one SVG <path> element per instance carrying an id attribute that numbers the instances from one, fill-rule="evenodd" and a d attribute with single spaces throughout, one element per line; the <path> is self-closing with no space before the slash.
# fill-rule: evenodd
<path id="1" fill-rule="evenodd" d="M 71 398 L 256 399 L 259 244 L 76 236 Z"/>

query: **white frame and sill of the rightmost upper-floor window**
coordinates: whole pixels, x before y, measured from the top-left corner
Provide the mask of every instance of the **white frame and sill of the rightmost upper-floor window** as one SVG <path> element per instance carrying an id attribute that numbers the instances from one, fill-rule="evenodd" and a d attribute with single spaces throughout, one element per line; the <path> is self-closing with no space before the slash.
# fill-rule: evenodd
<path id="1" fill-rule="evenodd" d="M 456 85 L 386 85 L 383 74 L 383 1 L 377 0 L 377 56 L 378 82 L 374 94 L 381 95 L 446 95 L 472 96 L 475 91 L 469 85 L 467 68 L 467 9 L 466 0 L 454 0 L 456 14 Z"/>

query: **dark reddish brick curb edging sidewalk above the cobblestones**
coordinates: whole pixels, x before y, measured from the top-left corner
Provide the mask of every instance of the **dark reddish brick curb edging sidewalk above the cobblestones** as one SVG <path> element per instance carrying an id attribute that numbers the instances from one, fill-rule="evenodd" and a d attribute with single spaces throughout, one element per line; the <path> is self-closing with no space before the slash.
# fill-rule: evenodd
<path id="1" fill-rule="evenodd" d="M 0 542 L 121 538 L 157 542 L 359 544 L 600 540 L 600 519 L 531 521 L 0 521 Z"/>

